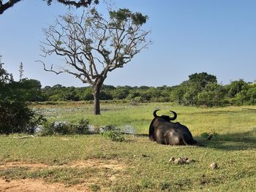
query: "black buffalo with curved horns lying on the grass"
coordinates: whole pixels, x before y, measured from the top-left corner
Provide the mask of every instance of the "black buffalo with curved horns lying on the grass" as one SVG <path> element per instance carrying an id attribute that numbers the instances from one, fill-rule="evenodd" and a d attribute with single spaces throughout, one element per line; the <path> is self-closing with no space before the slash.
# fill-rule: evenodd
<path id="1" fill-rule="evenodd" d="M 175 120 L 177 114 L 173 112 L 173 118 L 167 115 L 157 116 L 157 111 L 154 110 L 154 119 L 149 126 L 149 139 L 156 141 L 162 145 L 193 145 L 197 143 L 193 139 L 187 126 L 181 123 L 173 123 L 170 120 Z"/>

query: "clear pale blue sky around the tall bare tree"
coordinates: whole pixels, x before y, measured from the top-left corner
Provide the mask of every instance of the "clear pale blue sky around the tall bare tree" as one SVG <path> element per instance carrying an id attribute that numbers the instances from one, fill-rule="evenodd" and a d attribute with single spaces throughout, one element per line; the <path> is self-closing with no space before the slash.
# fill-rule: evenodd
<path id="1" fill-rule="evenodd" d="M 105 80 L 107 85 L 178 85 L 189 74 L 208 72 L 218 82 L 256 80 L 255 0 L 113 0 L 118 8 L 148 15 L 145 29 L 154 43 Z M 103 11 L 99 5 L 99 11 Z M 80 9 L 75 9 L 81 12 Z M 0 15 L 0 55 L 5 69 L 18 80 L 24 77 L 45 85 L 84 86 L 70 75 L 45 72 L 34 61 L 39 56 L 42 28 L 47 28 L 67 7 L 42 0 L 26 0 Z M 61 61 L 59 61 L 61 62 Z"/>

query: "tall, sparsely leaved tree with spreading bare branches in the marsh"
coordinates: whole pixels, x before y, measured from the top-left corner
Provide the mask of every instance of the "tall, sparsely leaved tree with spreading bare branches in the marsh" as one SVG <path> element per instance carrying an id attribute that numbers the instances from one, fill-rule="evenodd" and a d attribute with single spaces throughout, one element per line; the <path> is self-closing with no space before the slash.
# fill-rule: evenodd
<path id="1" fill-rule="evenodd" d="M 64 66 L 51 65 L 45 71 L 72 74 L 94 87 L 94 114 L 100 114 L 99 91 L 108 72 L 121 68 L 151 42 L 150 31 L 141 27 L 147 16 L 129 9 L 109 11 L 108 20 L 91 8 L 81 17 L 61 16 L 54 26 L 45 30 L 43 56 L 56 54 L 64 58 Z"/>

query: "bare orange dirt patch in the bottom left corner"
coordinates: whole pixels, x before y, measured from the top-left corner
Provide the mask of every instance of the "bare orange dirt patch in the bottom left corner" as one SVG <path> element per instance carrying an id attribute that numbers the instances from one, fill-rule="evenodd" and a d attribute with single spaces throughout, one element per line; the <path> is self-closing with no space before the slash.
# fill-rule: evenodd
<path id="1" fill-rule="evenodd" d="M 45 183 L 42 180 L 0 180 L 0 192 L 77 192 L 90 191 L 86 185 L 66 187 L 61 183 Z"/>

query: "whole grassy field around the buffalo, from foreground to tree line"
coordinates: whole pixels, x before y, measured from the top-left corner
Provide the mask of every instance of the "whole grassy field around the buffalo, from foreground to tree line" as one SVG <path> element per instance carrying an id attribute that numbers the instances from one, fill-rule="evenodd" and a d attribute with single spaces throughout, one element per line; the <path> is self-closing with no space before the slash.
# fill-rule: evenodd
<path id="1" fill-rule="evenodd" d="M 77 191 L 256 191 L 256 112 L 246 108 L 197 108 L 150 103 L 102 104 L 102 115 L 92 115 L 92 104 L 64 103 L 34 108 L 50 120 L 89 119 L 95 127 L 115 125 L 147 134 L 155 109 L 178 113 L 200 146 L 157 145 L 148 137 L 125 135 L 113 142 L 99 134 L 15 139 L 0 136 L 0 177 L 62 183 Z M 161 111 L 159 112 L 161 113 Z M 132 130 L 132 131 L 131 131 Z M 210 141 L 203 133 L 216 133 Z M 171 156 L 195 160 L 170 164 Z M 218 169 L 209 165 L 216 162 Z M 71 190 L 71 191 L 75 191 Z M 1 183 L 0 183 L 1 191 Z"/>

